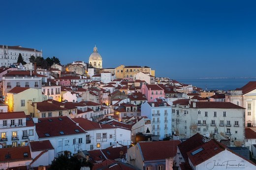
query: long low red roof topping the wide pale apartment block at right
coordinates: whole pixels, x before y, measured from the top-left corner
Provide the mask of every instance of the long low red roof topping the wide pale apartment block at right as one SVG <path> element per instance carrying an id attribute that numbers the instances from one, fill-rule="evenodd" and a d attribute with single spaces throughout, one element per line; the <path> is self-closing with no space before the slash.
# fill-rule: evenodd
<path id="1" fill-rule="evenodd" d="M 190 105 L 191 108 L 218 108 L 218 109 L 245 109 L 231 102 L 221 102 L 221 101 L 198 101 L 195 102 L 195 107 L 193 107 L 193 102 Z"/>

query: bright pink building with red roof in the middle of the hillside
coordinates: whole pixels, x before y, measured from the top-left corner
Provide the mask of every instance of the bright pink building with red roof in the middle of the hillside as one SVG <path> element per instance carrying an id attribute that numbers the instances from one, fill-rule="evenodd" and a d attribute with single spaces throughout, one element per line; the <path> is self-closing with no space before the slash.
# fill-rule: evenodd
<path id="1" fill-rule="evenodd" d="M 144 94 L 149 102 L 156 98 L 163 98 L 164 90 L 157 84 L 143 84 L 141 86 L 141 93 Z"/>

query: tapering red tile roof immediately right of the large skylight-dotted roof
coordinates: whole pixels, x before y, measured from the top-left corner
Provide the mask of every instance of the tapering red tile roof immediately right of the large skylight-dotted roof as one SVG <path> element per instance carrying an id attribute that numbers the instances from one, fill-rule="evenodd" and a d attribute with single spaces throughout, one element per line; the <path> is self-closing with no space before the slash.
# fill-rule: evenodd
<path id="1" fill-rule="evenodd" d="M 116 128 L 110 124 L 99 124 L 94 121 L 89 121 L 88 119 L 84 118 L 73 118 L 73 121 L 79 123 L 79 126 L 82 127 L 84 130 L 94 130 L 94 129 L 112 129 Z"/>

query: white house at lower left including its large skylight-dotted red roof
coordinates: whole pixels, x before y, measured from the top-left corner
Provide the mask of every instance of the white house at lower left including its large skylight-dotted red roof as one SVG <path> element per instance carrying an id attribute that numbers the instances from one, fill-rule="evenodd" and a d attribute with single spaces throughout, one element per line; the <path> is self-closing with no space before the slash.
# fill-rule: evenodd
<path id="1" fill-rule="evenodd" d="M 35 125 L 36 140 L 49 140 L 54 147 L 55 157 L 64 154 L 64 151 L 71 156 L 85 150 L 86 132 L 70 118 L 40 118 L 38 122 L 35 121 Z"/>

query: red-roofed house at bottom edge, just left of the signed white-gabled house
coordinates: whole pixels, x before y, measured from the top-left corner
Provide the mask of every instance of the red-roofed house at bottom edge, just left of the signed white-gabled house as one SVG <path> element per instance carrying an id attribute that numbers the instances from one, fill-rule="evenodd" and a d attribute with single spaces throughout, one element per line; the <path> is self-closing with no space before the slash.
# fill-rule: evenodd
<path id="1" fill-rule="evenodd" d="M 139 170 L 173 170 L 180 143 L 178 140 L 139 142 L 128 148 L 127 163 Z"/>

